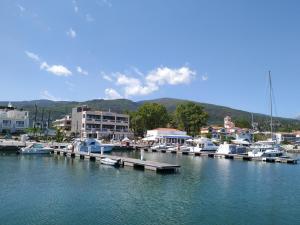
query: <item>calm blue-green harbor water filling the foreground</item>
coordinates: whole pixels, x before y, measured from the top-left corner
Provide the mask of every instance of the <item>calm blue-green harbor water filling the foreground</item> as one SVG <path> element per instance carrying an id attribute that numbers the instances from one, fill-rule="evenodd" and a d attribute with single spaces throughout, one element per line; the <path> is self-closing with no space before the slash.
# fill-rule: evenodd
<path id="1" fill-rule="evenodd" d="M 0 224 L 300 224 L 300 165 L 145 157 L 182 167 L 161 175 L 63 156 L 2 155 Z"/>

